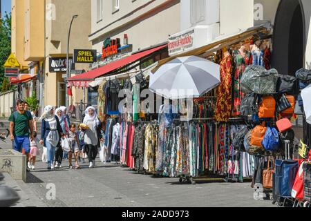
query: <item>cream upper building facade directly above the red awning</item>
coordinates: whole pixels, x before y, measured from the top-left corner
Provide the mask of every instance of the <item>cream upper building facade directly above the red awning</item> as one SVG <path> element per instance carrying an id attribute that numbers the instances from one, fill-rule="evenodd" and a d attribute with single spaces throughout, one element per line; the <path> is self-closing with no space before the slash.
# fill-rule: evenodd
<path id="1" fill-rule="evenodd" d="M 91 27 L 88 39 L 97 52 L 106 38 L 123 45 L 124 34 L 133 52 L 163 44 L 180 30 L 180 0 L 92 0 Z"/>

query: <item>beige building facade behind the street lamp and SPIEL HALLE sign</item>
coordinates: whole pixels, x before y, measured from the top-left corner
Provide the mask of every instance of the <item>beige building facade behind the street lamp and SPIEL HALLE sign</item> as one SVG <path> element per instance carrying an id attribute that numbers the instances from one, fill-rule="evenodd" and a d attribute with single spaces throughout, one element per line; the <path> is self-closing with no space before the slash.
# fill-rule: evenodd
<path id="1" fill-rule="evenodd" d="M 70 32 L 69 57 L 73 56 L 74 49 L 91 49 L 88 35 L 91 32 L 91 1 L 84 0 L 46 0 L 46 36 L 45 36 L 45 71 L 44 71 L 44 100 L 45 105 L 66 105 L 66 83 L 63 77 L 66 68 L 53 71 L 51 59 L 56 59 L 66 66 L 67 37 L 70 21 L 74 19 Z M 60 60 L 59 60 L 60 59 Z M 57 64 L 55 64 L 57 65 Z M 75 69 L 87 70 L 88 65 L 77 64 Z M 73 88 L 73 97 L 70 104 L 83 99 L 83 90 Z"/>

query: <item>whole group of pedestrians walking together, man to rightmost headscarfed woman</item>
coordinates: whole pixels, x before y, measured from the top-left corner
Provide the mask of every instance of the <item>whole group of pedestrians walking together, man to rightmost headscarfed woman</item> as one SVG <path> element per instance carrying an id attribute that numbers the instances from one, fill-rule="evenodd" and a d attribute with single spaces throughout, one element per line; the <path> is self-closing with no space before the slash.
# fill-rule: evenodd
<path id="1" fill-rule="evenodd" d="M 47 169 L 62 168 L 64 155 L 68 154 L 70 169 L 79 169 L 79 160 L 88 155 L 89 168 L 95 166 L 97 150 L 101 142 L 102 122 L 97 117 L 96 110 L 89 106 L 85 110 L 84 127 L 70 124 L 66 107 L 56 110 L 46 106 L 44 113 L 37 120 L 35 114 L 28 110 L 27 102 L 17 101 L 17 110 L 10 115 L 10 139 L 14 149 L 27 155 L 29 169 L 35 169 L 36 157 L 39 155 L 37 146 L 37 122 L 41 122 L 41 137 L 39 143 L 46 148 Z M 76 130 L 79 131 L 76 131 Z M 66 140 L 66 142 L 64 142 Z M 63 142 L 62 142 L 63 141 Z M 64 148 L 64 144 L 68 144 Z M 73 157 L 75 166 L 73 166 Z"/>

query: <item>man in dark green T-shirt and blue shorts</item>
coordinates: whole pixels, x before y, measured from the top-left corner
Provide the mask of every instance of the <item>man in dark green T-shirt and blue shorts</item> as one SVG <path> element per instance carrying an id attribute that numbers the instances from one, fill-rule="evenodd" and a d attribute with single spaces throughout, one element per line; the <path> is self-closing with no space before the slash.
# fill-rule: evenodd
<path id="1" fill-rule="evenodd" d="M 15 151 L 24 152 L 28 164 L 30 153 L 30 140 L 34 140 L 32 116 L 25 110 L 25 102 L 17 100 L 17 111 L 9 117 L 10 139 L 13 142 Z M 26 164 L 26 165 L 27 165 Z"/>

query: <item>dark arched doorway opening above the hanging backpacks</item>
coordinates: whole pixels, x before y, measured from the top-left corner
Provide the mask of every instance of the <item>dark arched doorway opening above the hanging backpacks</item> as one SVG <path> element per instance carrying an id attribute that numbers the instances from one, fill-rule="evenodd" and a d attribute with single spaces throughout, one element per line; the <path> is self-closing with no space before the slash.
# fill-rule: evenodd
<path id="1" fill-rule="evenodd" d="M 294 75 L 304 67 L 305 19 L 300 0 L 281 0 L 274 22 L 272 67 Z"/>

